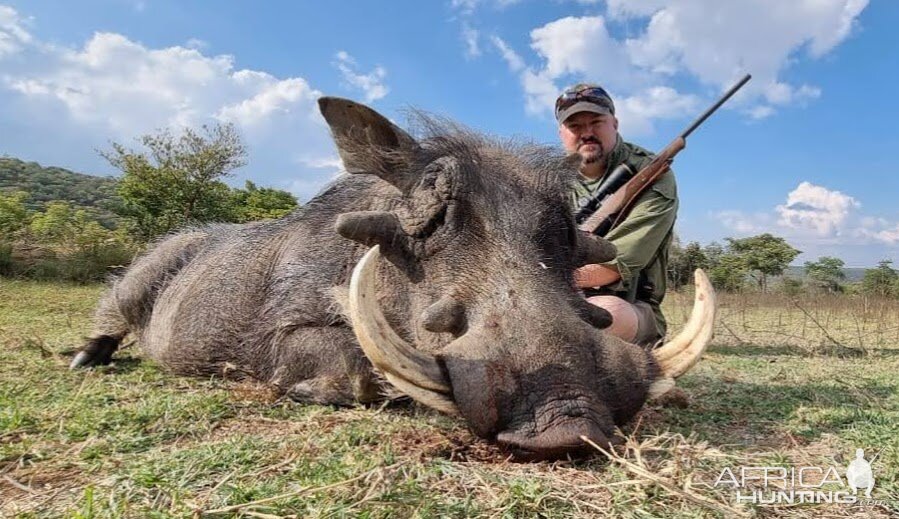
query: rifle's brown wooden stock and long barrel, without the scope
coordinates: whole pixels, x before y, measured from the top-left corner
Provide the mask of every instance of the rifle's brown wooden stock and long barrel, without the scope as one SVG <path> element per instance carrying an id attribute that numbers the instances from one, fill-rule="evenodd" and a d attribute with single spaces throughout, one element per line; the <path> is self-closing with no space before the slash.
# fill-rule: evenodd
<path id="1" fill-rule="evenodd" d="M 665 149 L 656 155 L 649 164 L 621 186 L 620 189 L 603 200 L 596 212 L 587 217 L 580 224 L 579 228 L 582 231 L 605 236 L 606 233 L 620 224 L 640 194 L 670 169 L 674 156 L 687 146 L 687 136 L 693 133 L 693 130 L 705 122 L 715 110 L 745 85 L 750 77 L 749 74 L 743 76 L 711 108 L 700 115 L 682 134 L 677 136 Z"/>

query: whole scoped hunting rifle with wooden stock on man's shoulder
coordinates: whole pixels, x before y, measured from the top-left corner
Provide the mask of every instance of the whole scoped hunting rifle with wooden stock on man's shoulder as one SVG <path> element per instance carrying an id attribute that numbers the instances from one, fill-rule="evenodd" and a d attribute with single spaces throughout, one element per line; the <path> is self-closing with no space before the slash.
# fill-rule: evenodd
<path id="1" fill-rule="evenodd" d="M 693 121 L 683 133 L 678 135 L 671 144 L 656 155 L 652 162 L 641 169 L 639 173 L 634 174 L 634 171 L 627 164 L 621 164 L 615 168 L 599 186 L 593 200 L 582 207 L 575 215 L 575 221 L 578 222 L 579 228 L 582 231 L 605 236 L 616 225 L 621 223 L 621 220 L 624 219 L 627 211 L 637 200 L 637 197 L 640 196 L 640 193 L 671 168 L 674 156 L 687 146 L 687 137 L 693 133 L 693 130 L 705 122 L 715 110 L 730 99 L 751 77 L 749 74 L 746 74 L 737 84 L 730 87 L 730 90 L 725 92 L 721 99 Z"/>

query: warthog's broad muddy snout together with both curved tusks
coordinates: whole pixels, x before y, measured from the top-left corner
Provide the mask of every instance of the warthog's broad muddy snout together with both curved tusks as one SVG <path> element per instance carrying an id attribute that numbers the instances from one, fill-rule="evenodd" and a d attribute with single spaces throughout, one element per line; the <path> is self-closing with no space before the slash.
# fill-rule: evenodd
<path id="1" fill-rule="evenodd" d="M 698 359 L 714 317 L 713 293 L 698 274 L 691 321 L 653 353 L 560 311 L 552 320 L 472 323 L 431 355 L 403 340 L 384 318 L 374 290 L 378 258 L 374 247 L 350 287 L 350 318 L 365 354 L 398 389 L 462 416 L 476 434 L 521 460 L 589 452 L 582 437 L 603 447 L 614 443 L 616 425 Z M 517 327 L 503 324 L 509 321 Z"/>

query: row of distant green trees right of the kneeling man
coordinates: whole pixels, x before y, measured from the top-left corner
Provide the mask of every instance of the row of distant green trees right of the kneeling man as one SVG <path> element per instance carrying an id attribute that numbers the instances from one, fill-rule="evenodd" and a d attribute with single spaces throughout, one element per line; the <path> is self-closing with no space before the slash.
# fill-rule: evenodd
<path id="1" fill-rule="evenodd" d="M 899 298 L 899 271 L 892 267 L 891 260 L 865 269 L 858 282 L 849 282 L 845 263 L 832 256 L 806 261 L 801 278 L 786 275 L 790 263 L 801 252 L 783 238 L 767 233 L 727 238 L 723 245 L 712 242 L 705 247 L 697 242 L 682 246 L 675 240 L 669 250 L 668 274 L 675 289 L 692 282 L 693 271 L 701 268 L 715 289 L 722 292 L 776 289 L 790 296 L 814 292 Z M 770 286 L 772 279 L 777 280 L 776 288 Z"/>

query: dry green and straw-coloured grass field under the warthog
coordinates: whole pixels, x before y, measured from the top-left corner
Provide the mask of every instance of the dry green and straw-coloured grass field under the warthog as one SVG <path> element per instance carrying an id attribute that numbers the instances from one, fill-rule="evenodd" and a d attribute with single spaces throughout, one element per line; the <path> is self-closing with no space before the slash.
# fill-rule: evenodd
<path id="1" fill-rule="evenodd" d="M 890 517 L 899 514 L 899 304 L 723 298 L 716 339 L 628 448 L 517 464 L 411 404 L 334 409 L 170 376 L 136 348 L 70 372 L 100 286 L 0 279 L 0 516 Z M 666 302 L 676 329 L 689 295 Z M 856 448 L 875 504 L 738 504 L 739 467 L 830 467 Z M 825 489 L 839 490 L 834 485 Z"/>

